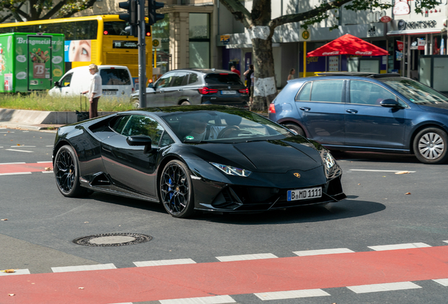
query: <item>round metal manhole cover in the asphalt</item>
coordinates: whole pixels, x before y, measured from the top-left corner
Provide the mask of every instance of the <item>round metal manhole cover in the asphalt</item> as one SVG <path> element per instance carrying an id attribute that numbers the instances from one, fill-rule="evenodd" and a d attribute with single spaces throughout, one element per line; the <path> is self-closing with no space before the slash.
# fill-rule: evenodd
<path id="1" fill-rule="evenodd" d="M 95 234 L 74 239 L 73 243 L 83 246 L 126 246 L 151 241 L 152 236 L 133 233 Z"/>

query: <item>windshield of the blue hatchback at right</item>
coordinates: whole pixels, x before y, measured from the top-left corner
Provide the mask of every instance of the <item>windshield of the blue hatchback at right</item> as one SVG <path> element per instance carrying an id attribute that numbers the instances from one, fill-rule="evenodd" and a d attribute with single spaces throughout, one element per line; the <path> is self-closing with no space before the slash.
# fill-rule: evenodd
<path id="1" fill-rule="evenodd" d="M 380 78 L 379 80 L 397 90 L 413 103 L 420 105 L 448 103 L 447 96 L 415 80 L 403 77 Z"/>

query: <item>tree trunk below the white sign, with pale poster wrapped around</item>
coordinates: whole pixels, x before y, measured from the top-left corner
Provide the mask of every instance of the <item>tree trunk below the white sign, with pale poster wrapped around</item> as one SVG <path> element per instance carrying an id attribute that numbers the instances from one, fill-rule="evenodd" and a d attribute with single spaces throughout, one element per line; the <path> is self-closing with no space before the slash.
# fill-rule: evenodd
<path id="1" fill-rule="evenodd" d="M 251 110 L 267 112 L 270 102 L 277 96 L 272 39 L 251 40 L 254 61 L 254 101 Z"/>

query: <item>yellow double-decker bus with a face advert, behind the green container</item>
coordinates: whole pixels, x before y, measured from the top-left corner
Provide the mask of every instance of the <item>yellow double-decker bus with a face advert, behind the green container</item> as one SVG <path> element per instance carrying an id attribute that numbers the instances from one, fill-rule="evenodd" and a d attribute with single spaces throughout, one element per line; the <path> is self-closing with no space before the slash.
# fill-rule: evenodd
<path id="1" fill-rule="evenodd" d="M 139 77 L 137 38 L 125 32 L 127 23 L 118 15 L 92 15 L 21 23 L 0 24 L 8 32 L 54 33 L 65 35 L 66 71 L 82 65 L 125 65 L 132 78 Z M 151 27 L 147 26 L 147 79 L 152 80 Z"/>

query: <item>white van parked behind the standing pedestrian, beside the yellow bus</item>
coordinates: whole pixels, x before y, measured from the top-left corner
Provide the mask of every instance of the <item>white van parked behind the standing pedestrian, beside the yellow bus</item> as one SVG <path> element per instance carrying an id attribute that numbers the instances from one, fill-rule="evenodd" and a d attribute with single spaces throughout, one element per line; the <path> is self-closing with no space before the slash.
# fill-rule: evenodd
<path id="1" fill-rule="evenodd" d="M 129 101 L 134 91 L 129 69 L 123 65 L 98 65 L 99 75 L 103 81 L 101 100 L 125 99 Z M 88 66 L 77 67 L 66 72 L 49 90 L 50 96 L 80 96 L 87 91 L 92 75 Z"/>

